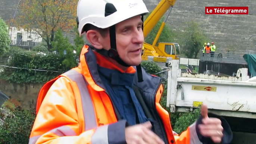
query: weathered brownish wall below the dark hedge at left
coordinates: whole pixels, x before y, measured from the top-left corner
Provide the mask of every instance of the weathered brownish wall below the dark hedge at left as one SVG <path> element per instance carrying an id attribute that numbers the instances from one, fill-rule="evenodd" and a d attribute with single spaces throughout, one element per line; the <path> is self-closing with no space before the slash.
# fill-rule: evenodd
<path id="1" fill-rule="evenodd" d="M 7 96 L 19 100 L 22 107 L 35 107 L 38 93 L 43 84 L 15 84 L 0 79 L 0 90 Z"/>

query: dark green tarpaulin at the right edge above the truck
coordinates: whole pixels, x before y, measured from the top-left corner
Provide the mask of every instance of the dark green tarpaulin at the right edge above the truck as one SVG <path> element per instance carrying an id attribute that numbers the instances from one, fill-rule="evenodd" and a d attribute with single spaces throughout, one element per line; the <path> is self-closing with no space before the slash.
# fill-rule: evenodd
<path id="1" fill-rule="evenodd" d="M 250 73 L 253 76 L 256 76 L 256 54 L 244 54 L 244 60 L 248 64 Z"/>

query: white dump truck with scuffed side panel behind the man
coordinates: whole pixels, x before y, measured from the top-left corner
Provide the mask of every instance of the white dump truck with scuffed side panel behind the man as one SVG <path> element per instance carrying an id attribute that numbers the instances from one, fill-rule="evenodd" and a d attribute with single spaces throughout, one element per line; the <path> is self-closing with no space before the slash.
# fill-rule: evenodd
<path id="1" fill-rule="evenodd" d="M 225 77 L 182 73 L 179 60 L 168 65 L 166 107 L 171 112 L 191 112 L 206 104 L 230 124 L 232 144 L 256 143 L 256 77 L 249 78 L 246 68 L 238 70 L 238 77 Z"/>

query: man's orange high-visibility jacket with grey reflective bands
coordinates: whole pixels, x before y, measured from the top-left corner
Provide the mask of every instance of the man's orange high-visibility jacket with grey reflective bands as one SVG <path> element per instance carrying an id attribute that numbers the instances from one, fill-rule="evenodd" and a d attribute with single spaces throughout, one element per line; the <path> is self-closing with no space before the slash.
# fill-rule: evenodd
<path id="1" fill-rule="evenodd" d="M 111 65 L 104 57 L 84 46 L 78 67 L 41 88 L 29 144 L 125 143 L 125 135 L 120 135 L 125 129 L 125 120 L 118 120 L 116 108 L 99 78 L 97 64 Z M 136 70 L 130 67 L 127 72 Z M 135 77 L 134 84 L 144 91 L 144 101 L 152 113 L 155 133 L 166 144 L 200 144 L 194 124 L 181 135 L 172 131 L 170 116 L 159 104 L 163 93 L 160 78 L 144 70 L 143 82 L 138 83 Z"/>

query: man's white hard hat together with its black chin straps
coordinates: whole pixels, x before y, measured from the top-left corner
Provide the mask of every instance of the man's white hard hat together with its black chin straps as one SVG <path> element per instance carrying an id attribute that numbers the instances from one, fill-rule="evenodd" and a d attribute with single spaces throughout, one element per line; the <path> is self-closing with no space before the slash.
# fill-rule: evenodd
<path id="1" fill-rule="evenodd" d="M 84 32 L 86 24 L 94 25 L 98 28 L 109 28 L 110 49 L 97 50 L 104 56 L 109 56 L 122 66 L 130 66 L 119 57 L 116 49 L 115 25 L 126 19 L 137 15 L 149 13 L 143 0 L 79 0 L 77 5 L 77 25 L 79 35 Z M 143 28 L 142 28 L 143 29 Z M 138 82 L 142 82 L 141 65 L 136 66 Z"/>

